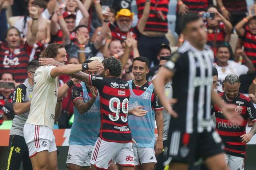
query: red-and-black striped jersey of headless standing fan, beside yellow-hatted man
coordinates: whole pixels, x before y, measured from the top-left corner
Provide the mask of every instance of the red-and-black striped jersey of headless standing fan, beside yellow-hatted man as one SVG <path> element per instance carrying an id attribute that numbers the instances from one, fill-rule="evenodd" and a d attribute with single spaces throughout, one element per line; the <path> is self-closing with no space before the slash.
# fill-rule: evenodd
<path id="1" fill-rule="evenodd" d="M 146 0 L 137 0 L 138 7 L 138 18 L 140 19 L 143 15 Z M 157 12 L 162 12 L 165 20 L 161 20 L 157 17 Z M 168 32 L 168 20 L 167 14 L 169 12 L 169 0 L 150 0 L 150 11 L 149 17 L 144 28 L 144 31 L 157 31 L 157 32 Z"/>

